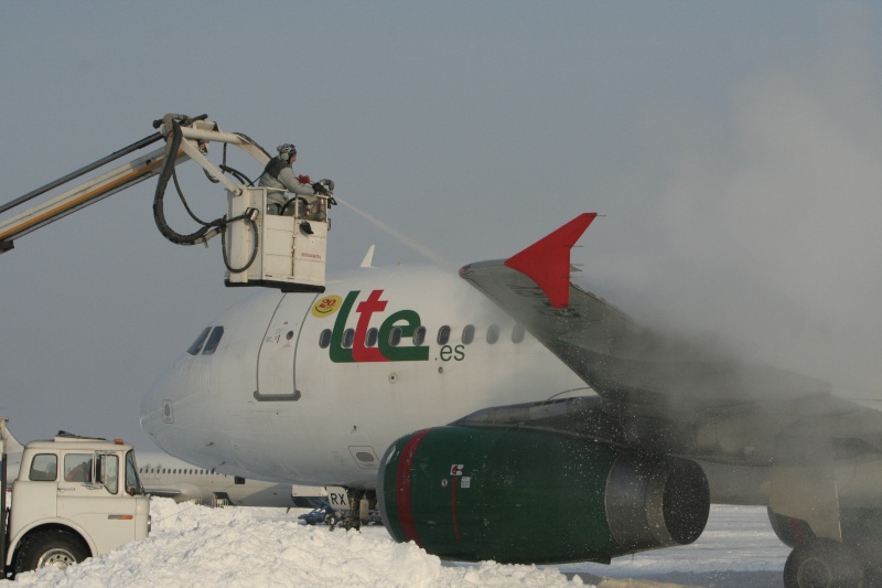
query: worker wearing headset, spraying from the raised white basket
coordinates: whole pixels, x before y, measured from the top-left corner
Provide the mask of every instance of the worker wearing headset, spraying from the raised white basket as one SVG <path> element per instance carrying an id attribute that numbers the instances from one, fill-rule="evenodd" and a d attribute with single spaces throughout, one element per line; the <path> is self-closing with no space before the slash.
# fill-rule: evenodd
<path id="1" fill-rule="evenodd" d="M 294 175 L 292 165 L 297 161 L 297 147 L 291 143 L 276 148 L 279 154 L 269 160 L 257 185 L 267 189 L 267 214 L 284 214 L 324 221 L 324 201 L 318 194 L 327 194 L 330 180 L 312 182 L 309 175 Z M 286 192 L 295 196 L 288 200 Z"/>

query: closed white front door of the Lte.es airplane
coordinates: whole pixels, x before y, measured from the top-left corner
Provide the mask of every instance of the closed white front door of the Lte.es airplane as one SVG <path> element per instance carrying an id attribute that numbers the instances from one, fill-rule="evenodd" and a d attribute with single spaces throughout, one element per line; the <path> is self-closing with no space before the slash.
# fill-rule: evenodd
<path id="1" fill-rule="evenodd" d="M 276 308 L 257 356 L 259 400 L 297 400 L 294 361 L 300 328 L 314 297 L 288 293 Z"/>

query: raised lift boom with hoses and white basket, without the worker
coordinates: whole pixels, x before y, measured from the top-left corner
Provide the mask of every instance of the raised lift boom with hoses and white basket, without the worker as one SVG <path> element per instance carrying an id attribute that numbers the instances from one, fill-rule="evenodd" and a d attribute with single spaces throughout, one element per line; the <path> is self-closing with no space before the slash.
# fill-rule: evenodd
<path id="1" fill-rule="evenodd" d="M 333 203 L 330 196 L 333 182 L 322 182 L 329 194 L 319 195 L 312 210 L 304 212 L 300 206 L 291 206 L 284 209 L 288 214 L 267 215 L 267 189 L 255 188 L 247 177 L 226 165 L 226 147 L 230 145 L 251 156 L 262 171 L 270 156 L 257 142 L 243 133 L 220 131 L 215 122 L 206 120 L 206 115 L 191 118 L 169 114 L 153 121 L 153 127 L 159 132 L 0 205 L 1 216 L 30 204 L 18 214 L 0 218 L 0 254 L 12 249 L 14 240 L 23 235 L 158 175 L 153 217 L 160 233 L 178 245 L 206 243 L 220 234 L 227 286 L 269 286 L 287 291 L 324 289 L 326 211 L 329 203 Z M 85 180 L 58 195 L 32 203 L 39 196 L 163 140 L 164 147 Z M 224 143 L 224 163 L 216 165 L 207 159 L 212 142 Z M 198 221 L 191 213 L 202 226 L 194 233 L 181 234 L 166 223 L 163 199 L 171 179 L 180 192 L 174 169 L 186 160 L 202 167 L 212 182 L 223 184 L 227 202 L 226 214 L 211 222 Z M 184 204 L 186 206 L 186 202 Z"/>

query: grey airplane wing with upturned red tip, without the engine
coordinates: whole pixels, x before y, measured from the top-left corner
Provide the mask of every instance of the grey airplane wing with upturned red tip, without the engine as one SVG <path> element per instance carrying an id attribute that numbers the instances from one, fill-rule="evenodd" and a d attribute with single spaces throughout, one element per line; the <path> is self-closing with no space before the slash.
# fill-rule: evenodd
<path id="1" fill-rule="evenodd" d="M 768 462 L 771 439 L 760 453 L 762 439 L 720 447 L 717 426 L 738 427 L 742 437 L 759 427 L 768 435 L 757 437 L 768 437 L 807 418 L 847 416 L 822 430 L 863 431 L 882 448 L 880 414 L 831 396 L 828 383 L 642 327 L 571 284 L 570 248 L 595 216 L 580 215 L 509 259 L 471 264 L 460 275 L 589 384 L 603 409 L 622 417 L 622 434 L 630 428 L 638 442 L 644 434 L 643 442 L 666 452 L 730 461 L 743 459 L 749 447 L 753 461 Z M 711 425 L 714 439 L 696 439 Z"/>

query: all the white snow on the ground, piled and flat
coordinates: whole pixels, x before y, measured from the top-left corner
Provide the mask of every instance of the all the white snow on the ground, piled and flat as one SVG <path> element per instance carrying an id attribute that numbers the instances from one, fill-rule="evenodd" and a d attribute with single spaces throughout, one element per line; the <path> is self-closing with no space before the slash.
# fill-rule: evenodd
<path id="1" fill-rule="evenodd" d="M 299 524 L 304 511 L 208 509 L 152 499 L 150 537 L 65 570 L 22 574 L 0 587 L 121 586 L 590 586 L 598 576 L 709 588 L 777 588 L 788 549 L 763 509 L 712 506 L 695 544 L 612 565 L 508 566 L 442 563 L 383 526 L 331 532 Z M 571 578 L 568 581 L 568 577 Z"/>

